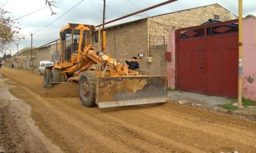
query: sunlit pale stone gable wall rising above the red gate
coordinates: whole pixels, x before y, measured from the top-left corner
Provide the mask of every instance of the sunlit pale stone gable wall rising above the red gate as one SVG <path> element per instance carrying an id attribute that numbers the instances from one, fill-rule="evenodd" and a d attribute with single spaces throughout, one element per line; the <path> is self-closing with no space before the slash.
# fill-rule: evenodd
<path id="1" fill-rule="evenodd" d="M 166 44 L 169 42 L 169 30 L 173 27 L 186 28 L 200 25 L 208 19 L 214 19 L 214 15 L 219 15 L 222 21 L 236 19 L 232 13 L 218 4 L 199 7 L 195 9 L 174 12 L 148 18 L 148 41 L 150 45 L 159 45 L 159 37 L 164 37 Z M 159 36 L 151 37 L 150 36 Z"/>

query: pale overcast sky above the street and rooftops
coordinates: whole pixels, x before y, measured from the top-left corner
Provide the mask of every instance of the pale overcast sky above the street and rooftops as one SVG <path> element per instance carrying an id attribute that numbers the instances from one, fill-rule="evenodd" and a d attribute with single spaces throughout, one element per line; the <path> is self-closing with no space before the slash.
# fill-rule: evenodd
<path id="1" fill-rule="evenodd" d="M 3 9 L 11 12 L 13 18 L 19 18 L 41 9 L 40 11 L 22 17 L 18 20 L 20 22 L 20 28 L 22 28 L 21 32 L 26 37 L 25 40 L 19 42 L 19 50 L 23 47 L 31 45 L 30 32 L 33 33 L 33 46 L 38 47 L 58 39 L 59 29 L 67 23 L 83 23 L 98 25 L 102 21 L 102 0 L 55 1 L 58 2 L 56 4 L 58 8 L 53 8 L 53 11 L 56 12 L 57 14 L 51 15 L 50 8 L 45 8 L 45 0 L 0 0 L 0 6 Z M 106 0 L 106 21 L 115 19 L 117 17 L 121 17 L 125 14 L 136 12 L 138 11 L 138 8 L 144 9 L 165 1 L 167 0 Z M 80 4 L 77 5 L 78 3 Z M 167 4 L 165 6 L 155 8 L 150 11 L 146 11 L 145 13 L 148 16 L 154 16 L 215 3 L 218 3 L 222 7 L 238 15 L 238 0 L 179 0 L 174 3 Z M 69 11 L 67 14 L 65 14 L 75 5 L 77 6 L 73 8 L 71 11 Z M 248 14 L 256 16 L 255 6 L 255 0 L 244 0 L 243 17 L 247 16 Z M 112 24 L 118 24 L 121 22 L 127 22 L 146 17 L 144 13 L 140 13 L 139 15 L 140 16 L 133 16 L 123 20 L 119 20 Z M 59 19 L 56 20 L 57 18 Z M 50 24 L 54 20 L 56 21 Z M 48 24 L 50 25 L 46 27 Z M 17 47 L 13 45 L 12 55 L 15 53 L 17 53 Z M 7 52 L 7 54 L 9 53 Z"/>

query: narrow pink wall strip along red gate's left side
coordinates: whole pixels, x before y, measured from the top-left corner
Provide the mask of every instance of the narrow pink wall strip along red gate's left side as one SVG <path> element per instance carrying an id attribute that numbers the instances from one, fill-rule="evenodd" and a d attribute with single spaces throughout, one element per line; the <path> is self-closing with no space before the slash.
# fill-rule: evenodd
<path id="1" fill-rule="evenodd" d="M 169 31 L 169 43 L 167 45 L 167 52 L 171 53 L 171 60 L 167 61 L 167 75 L 168 75 L 168 87 L 175 89 L 175 29 Z"/>

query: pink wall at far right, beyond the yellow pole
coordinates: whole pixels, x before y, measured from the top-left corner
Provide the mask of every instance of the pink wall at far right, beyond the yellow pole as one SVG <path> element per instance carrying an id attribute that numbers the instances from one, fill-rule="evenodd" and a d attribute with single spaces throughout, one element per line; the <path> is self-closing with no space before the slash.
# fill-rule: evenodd
<path id="1" fill-rule="evenodd" d="M 243 19 L 243 97 L 256 101 L 256 17 Z"/>

